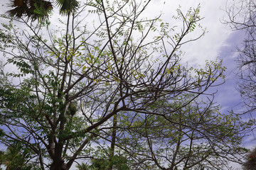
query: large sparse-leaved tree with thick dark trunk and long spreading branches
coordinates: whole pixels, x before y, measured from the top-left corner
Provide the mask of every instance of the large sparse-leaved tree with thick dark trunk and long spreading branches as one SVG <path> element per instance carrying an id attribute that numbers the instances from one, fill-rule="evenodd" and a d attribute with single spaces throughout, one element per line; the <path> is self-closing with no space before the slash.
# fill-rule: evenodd
<path id="1" fill-rule="evenodd" d="M 219 62 L 208 62 L 205 68 L 181 65 L 181 45 L 201 37 L 187 38 L 201 21 L 199 7 L 186 14 L 177 10 L 174 21 L 182 23 L 177 31 L 159 17 L 144 17 L 149 4 L 85 1 L 70 8 L 58 26 L 50 18 L 36 23 L 21 15 L 17 22 L 3 15 L 9 24 L 2 24 L 0 50 L 4 65 L 17 72 L 1 74 L 0 142 L 28 148 L 31 159 L 26 164 L 38 164 L 38 169 L 65 170 L 78 160 L 99 158 L 110 163 L 109 169 L 117 168 L 115 161 L 144 167 L 144 161 L 137 162 L 143 157 L 117 141 L 127 139 L 119 133 L 119 123 L 131 120 L 130 113 L 138 121 L 147 116 L 164 122 L 167 115 L 152 109 L 154 105 L 193 94 L 175 106 L 182 113 L 211 86 L 223 83 L 225 70 Z M 139 129 L 141 123 L 132 123 L 123 123 L 122 129 L 147 131 L 147 126 Z M 129 140 L 137 144 L 132 136 Z M 149 160 L 158 163 L 153 158 Z"/>

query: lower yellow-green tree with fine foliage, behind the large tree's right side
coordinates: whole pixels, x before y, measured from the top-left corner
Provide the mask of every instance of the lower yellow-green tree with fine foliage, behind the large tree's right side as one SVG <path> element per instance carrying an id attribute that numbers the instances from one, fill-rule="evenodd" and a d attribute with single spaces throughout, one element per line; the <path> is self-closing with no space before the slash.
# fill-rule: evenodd
<path id="1" fill-rule="evenodd" d="M 228 169 L 228 160 L 242 163 L 240 156 L 247 149 L 240 147 L 238 115 L 220 113 L 213 101 L 193 100 L 184 106 L 193 97 L 185 94 L 160 101 L 151 106 L 155 115 L 134 118 L 130 113 L 129 120 L 121 121 L 120 133 L 126 138 L 119 141 L 138 160 L 134 169 L 140 169 L 142 162 L 143 169 L 163 170 Z M 122 128 L 127 124 L 131 129 Z M 138 140 L 134 143 L 129 138 Z"/>

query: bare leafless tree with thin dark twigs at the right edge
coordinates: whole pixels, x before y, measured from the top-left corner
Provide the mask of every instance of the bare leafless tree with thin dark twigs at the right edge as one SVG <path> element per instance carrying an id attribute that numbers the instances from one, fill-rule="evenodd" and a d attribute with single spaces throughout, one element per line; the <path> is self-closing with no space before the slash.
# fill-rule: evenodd
<path id="1" fill-rule="evenodd" d="M 256 1 L 233 1 L 226 9 L 228 19 L 224 21 L 229 24 L 233 30 L 245 32 L 245 40 L 242 42 L 242 47 L 238 49 L 240 57 L 238 57 L 240 79 L 238 86 L 241 96 L 245 100 L 245 106 L 248 112 L 255 111 L 255 8 Z"/>

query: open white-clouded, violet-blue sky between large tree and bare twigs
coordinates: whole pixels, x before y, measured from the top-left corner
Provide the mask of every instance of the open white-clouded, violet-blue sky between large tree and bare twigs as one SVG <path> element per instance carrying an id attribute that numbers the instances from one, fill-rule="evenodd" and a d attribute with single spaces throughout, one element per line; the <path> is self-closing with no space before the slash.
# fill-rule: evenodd
<path id="1" fill-rule="evenodd" d="M 1 0 L 0 7 L 6 2 L 8 0 Z M 163 13 L 161 18 L 163 21 L 169 22 L 179 6 L 186 13 L 188 8 L 196 8 L 200 4 L 200 15 L 203 17 L 201 26 L 206 28 L 207 33 L 201 39 L 182 47 L 182 50 L 186 52 L 182 60 L 196 67 L 203 65 L 206 60 L 215 60 L 217 57 L 223 60 L 223 65 L 227 67 L 226 82 L 213 90 L 218 90 L 215 101 L 222 106 L 222 111 L 227 113 L 231 109 L 240 110 L 240 106 L 242 106 L 240 94 L 236 89 L 235 72 L 238 70 L 235 60 L 238 57 L 236 47 L 240 46 L 244 35 L 241 32 L 233 32 L 229 26 L 221 23 L 223 18 L 227 18 L 225 8 L 230 2 L 232 0 L 166 0 L 164 4 L 164 0 L 152 0 L 152 4 L 148 8 L 149 16 Z M 2 12 L 3 10 L 0 8 L 0 13 Z M 255 142 L 247 140 L 245 146 L 252 148 L 255 146 Z"/>

